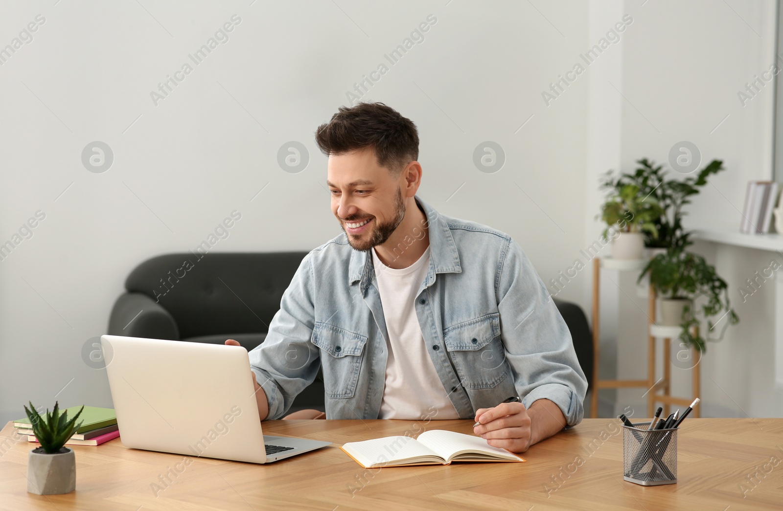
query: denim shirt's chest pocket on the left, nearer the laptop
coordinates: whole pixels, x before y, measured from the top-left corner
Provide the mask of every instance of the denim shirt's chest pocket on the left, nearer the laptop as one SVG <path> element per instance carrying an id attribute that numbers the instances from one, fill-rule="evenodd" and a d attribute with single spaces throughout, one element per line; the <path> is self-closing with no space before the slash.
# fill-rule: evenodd
<path id="1" fill-rule="evenodd" d="M 352 398 L 362 369 L 367 337 L 338 326 L 316 323 L 312 344 L 321 351 L 323 383 L 327 398 Z"/>

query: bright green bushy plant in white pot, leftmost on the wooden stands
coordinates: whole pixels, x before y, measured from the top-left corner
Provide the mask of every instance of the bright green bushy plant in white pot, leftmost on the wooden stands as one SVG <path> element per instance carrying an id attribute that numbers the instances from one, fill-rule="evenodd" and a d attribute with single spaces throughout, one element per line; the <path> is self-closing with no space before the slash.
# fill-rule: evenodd
<path id="1" fill-rule="evenodd" d="M 663 214 L 662 208 L 650 194 L 643 195 L 638 185 L 626 182 L 622 175 L 615 179 L 609 171 L 601 185 L 608 189 L 601 220 L 606 222 L 604 238 L 610 229 L 617 230 L 612 242 L 613 259 L 641 259 L 644 236 L 658 236 L 655 221 Z"/>

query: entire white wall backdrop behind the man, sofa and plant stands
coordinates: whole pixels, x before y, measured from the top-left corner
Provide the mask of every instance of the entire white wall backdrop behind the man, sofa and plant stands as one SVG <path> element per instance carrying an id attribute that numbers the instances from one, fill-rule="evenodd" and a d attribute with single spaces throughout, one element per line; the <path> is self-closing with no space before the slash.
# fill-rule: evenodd
<path id="1" fill-rule="evenodd" d="M 736 92 L 774 56 L 771 0 L 52 3 L 6 3 L 0 16 L 0 47 L 45 17 L 0 66 L 0 243 L 46 214 L 0 261 L 0 423 L 28 399 L 110 405 L 105 375 L 82 359 L 85 341 L 105 332 L 136 264 L 197 246 L 230 211 L 242 220 L 214 250 L 307 250 L 335 236 L 312 133 L 430 14 L 438 21 L 424 42 L 363 99 L 417 123 L 424 200 L 509 232 L 547 284 L 600 235 L 596 179 L 608 168 L 663 162 L 682 139 L 705 161 L 723 159 L 729 170 L 695 200 L 693 227 L 737 225 L 731 203 L 742 207 L 745 182 L 770 175 L 772 88 L 745 107 Z M 229 41 L 155 106 L 150 92 L 233 14 L 241 22 Z M 621 41 L 547 105 L 550 82 L 625 14 L 633 23 Z M 101 174 L 81 163 L 96 140 L 115 157 Z M 298 174 L 276 161 L 290 140 L 309 149 Z M 493 174 L 472 161 L 487 140 L 507 155 Z M 695 248 L 732 286 L 767 257 Z M 604 354 L 618 356 L 607 369 L 642 377 L 646 318 L 625 299 L 634 279 L 609 276 L 622 291 L 602 283 Z M 586 268 L 558 297 L 589 317 L 590 286 Z M 759 298 L 738 305 L 741 325 L 709 347 L 707 415 L 742 416 L 736 403 L 753 416 L 783 414 L 779 390 L 767 398 L 773 302 Z M 619 393 L 617 406 L 643 408 L 634 392 Z"/>

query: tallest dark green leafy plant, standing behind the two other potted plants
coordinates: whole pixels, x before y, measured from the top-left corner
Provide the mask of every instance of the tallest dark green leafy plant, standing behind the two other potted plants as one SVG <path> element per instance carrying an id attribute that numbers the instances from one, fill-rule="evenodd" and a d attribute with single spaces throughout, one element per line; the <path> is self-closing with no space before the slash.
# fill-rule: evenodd
<path id="1" fill-rule="evenodd" d="M 662 214 L 652 220 L 655 230 L 645 231 L 644 246 L 661 249 L 684 249 L 690 242 L 684 231 L 683 207 L 691 203 L 691 196 L 707 184 L 710 175 L 725 170 L 723 161 L 712 160 L 697 175 L 683 180 L 667 179 L 662 165 L 655 165 L 647 158 L 637 160 L 640 167 L 633 174 L 622 174 L 615 186 L 637 185 L 642 196 L 649 196 L 662 209 Z"/>

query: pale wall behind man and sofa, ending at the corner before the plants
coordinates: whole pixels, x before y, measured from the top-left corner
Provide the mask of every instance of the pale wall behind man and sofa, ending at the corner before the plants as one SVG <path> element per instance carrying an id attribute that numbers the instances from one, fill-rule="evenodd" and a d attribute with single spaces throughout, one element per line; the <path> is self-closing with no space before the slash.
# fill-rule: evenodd
<path id="1" fill-rule="evenodd" d="M 542 276 L 583 243 L 587 81 L 549 107 L 541 97 L 586 48 L 583 2 L 53 3 L 6 2 L 0 16 L 3 46 L 45 18 L 0 66 L 0 241 L 46 215 L 0 261 L 0 423 L 27 400 L 110 405 L 85 341 L 136 264 L 196 247 L 230 211 L 242 219 L 213 250 L 335 236 L 313 131 L 430 14 L 424 42 L 363 98 L 419 127 L 420 195 L 509 232 Z M 156 106 L 150 92 L 233 14 L 226 44 Z M 81 163 L 96 140 L 114 152 L 100 174 Z M 298 174 L 276 161 L 290 140 L 311 157 Z M 507 154 L 494 174 L 473 164 L 486 140 Z"/>

